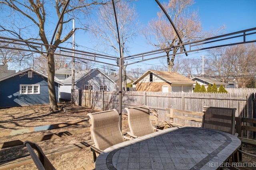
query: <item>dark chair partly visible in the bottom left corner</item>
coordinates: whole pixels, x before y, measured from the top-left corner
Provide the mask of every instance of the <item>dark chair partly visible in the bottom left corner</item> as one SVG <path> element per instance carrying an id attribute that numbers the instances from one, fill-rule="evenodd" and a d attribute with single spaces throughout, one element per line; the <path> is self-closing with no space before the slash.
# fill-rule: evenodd
<path id="1" fill-rule="evenodd" d="M 28 152 L 36 164 L 38 170 L 56 170 L 38 145 L 30 141 L 25 141 L 24 146 L 28 149 Z M 36 155 L 34 149 L 37 151 L 38 156 Z"/>

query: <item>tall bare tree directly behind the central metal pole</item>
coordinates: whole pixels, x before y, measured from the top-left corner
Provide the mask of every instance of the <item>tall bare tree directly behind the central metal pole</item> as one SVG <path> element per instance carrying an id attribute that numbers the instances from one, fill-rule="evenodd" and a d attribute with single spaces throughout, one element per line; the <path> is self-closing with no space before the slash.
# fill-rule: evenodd
<path id="1" fill-rule="evenodd" d="M 132 40 L 132 37 L 136 33 L 138 16 L 135 11 L 135 6 L 131 6 L 128 2 L 116 2 L 115 8 L 120 33 L 121 48 L 119 48 L 116 20 L 112 5 L 100 7 L 100 9 L 98 10 L 98 21 L 94 21 L 94 23 L 91 24 L 93 25 L 93 27 L 90 29 L 90 32 L 95 37 L 100 38 L 100 44 L 98 45 L 105 45 L 106 50 L 114 50 L 115 53 L 118 53 L 121 57 L 123 57 L 124 53 L 128 53 L 129 47 L 127 45 L 127 42 L 129 40 Z M 126 66 L 122 67 L 122 71 L 124 77 L 124 89 L 126 91 Z"/>

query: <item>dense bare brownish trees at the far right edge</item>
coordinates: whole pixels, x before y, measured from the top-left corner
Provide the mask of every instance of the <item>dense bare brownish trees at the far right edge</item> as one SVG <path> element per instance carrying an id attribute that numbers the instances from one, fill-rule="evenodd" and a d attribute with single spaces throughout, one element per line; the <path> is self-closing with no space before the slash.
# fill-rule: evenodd
<path id="1" fill-rule="evenodd" d="M 246 88 L 255 81 L 255 55 L 254 43 L 214 49 L 206 58 L 206 74 L 226 83 L 235 78 L 238 88 Z"/>

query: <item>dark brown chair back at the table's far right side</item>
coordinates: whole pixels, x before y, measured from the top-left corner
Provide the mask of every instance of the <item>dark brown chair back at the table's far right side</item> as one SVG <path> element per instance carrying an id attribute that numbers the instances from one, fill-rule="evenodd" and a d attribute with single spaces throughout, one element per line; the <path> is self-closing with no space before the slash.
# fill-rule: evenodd
<path id="1" fill-rule="evenodd" d="M 224 131 L 234 135 L 235 113 L 236 108 L 204 106 L 202 127 Z"/>

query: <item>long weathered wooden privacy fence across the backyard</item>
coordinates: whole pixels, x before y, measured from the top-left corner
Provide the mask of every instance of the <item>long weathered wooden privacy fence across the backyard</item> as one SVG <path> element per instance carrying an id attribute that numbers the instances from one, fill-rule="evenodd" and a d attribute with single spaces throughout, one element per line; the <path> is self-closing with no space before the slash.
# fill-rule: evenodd
<path id="1" fill-rule="evenodd" d="M 158 110 L 158 120 L 170 121 L 166 108 L 202 112 L 204 106 L 236 108 L 236 117 L 256 118 L 256 89 L 227 89 L 228 93 L 187 92 L 122 92 L 122 113 L 125 107 L 147 105 Z M 117 109 L 118 91 L 74 90 L 75 104 L 90 108 Z M 194 126 L 193 121 L 174 119 L 176 124 Z"/>

